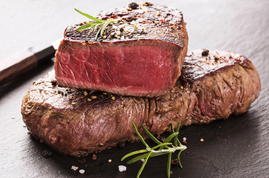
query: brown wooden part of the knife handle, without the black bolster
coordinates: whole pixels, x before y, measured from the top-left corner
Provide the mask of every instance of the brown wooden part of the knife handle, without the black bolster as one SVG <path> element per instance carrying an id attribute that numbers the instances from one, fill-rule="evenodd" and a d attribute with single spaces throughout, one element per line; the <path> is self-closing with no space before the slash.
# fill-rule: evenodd
<path id="1" fill-rule="evenodd" d="M 22 50 L 0 60 L 0 86 L 37 66 L 33 52 Z"/>

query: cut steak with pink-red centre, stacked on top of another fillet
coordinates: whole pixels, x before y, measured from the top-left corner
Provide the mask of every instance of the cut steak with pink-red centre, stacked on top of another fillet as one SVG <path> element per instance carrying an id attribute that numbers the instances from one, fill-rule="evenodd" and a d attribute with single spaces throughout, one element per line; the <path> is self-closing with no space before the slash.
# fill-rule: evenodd
<path id="1" fill-rule="evenodd" d="M 54 61 L 60 86 L 155 97 L 175 85 L 188 42 L 179 10 L 162 5 L 117 8 L 97 18 L 120 21 L 97 41 L 90 29 L 76 31 L 79 24 L 66 28 Z"/>

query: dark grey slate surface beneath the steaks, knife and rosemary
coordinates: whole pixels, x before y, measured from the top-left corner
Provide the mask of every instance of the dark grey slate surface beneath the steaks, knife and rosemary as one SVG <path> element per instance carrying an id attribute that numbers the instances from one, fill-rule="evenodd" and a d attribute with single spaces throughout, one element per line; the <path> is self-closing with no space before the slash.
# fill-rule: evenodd
<path id="1" fill-rule="evenodd" d="M 128 6 L 131 1 L 0 2 L 2 58 L 28 47 L 47 47 L 63 36 L 68 25 L 87 20 L 73 8 L 94 15 L 104 9 Z M 260 96 L 247 113 L 180 129 L 179 139 L 187 138 L 187 149 L 181 154 L 183 169 L 172 166 L 171 177 L 269 177 L 269 1 L 151 2 L 183 12 L 189 49 L 217 48 L 243 54 L 252 60 L 261 79 Z M 94 161 L 92 154 L 85 156 L 84 164 L 77 162 L 82 158 L 56 151 L 49 158 L 41 156 L 49 147 L 27 134 L 20 105 L 33 80 L 52 69 L 52 62 L 45 63 L 0 87 L 0 177 L 136 177 L 142 162 L 126 165 L 120 159 L 131 151 L 144 149 L 142 143 L 102 151 Z M 172 158 L 175 156 L 176 153 Z M 108 159 L 112 162 L 108 163 Z M 166 162 L 167 156 L 150 158 L 141 177 L 165 177 Z M 79 169 L 73 171 L 73 165 Z M 127 170 L 119 172 L 119 165 L 127 166 Z M 80 174 L 80 169 L 85 173 Z"/>

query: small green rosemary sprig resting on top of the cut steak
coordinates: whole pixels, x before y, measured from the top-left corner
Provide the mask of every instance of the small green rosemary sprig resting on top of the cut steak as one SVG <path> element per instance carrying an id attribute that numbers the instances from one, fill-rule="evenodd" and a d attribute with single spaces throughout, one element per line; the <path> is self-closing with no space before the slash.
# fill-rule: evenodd
<path id="1" fill-rule="evenodd" d="M 110 23 L 114 23 L 114 22 L 118 21 L 118 20 L 115 20 L 115 19 L 100 20 L 100 19 L 97 19 L 97 18 L 95 18 L 95 17 L 93 17 L 93 16 L 91 16 L 91 15 L 88 15 L 88 14 L 86 14 L 86 13 L 83 13 L 83 12 L 77 10 L 77 9 L 75 9 L 75 10 L 76 10 L 78 13 L 80 13 L 80 14 L 82 14 L 82 15 L 88 17 L 89 19 L 94 20 L 94 22 L 87 22 L 87 24 L 85 24 L 85 25 L 83 25 L 83 26 L 77 28 L 76 31 L 80 31 L 80 30 L 84 30 L 84 29 L 91 29 L 91 30 L 89 31 L 89 34 L 91 34 L 91 32 L 97 30 L 97 28 L 98 28 L 99 26 L 101 26 L 101 27 L 99 27 L 99 29 L 98 29 L 98 31 L 97 31 L 97 33 L 96 33 L 96 35 L 95 35 L 95 41 L 97 40 L 98 35 L 103 36 L 103 33 L 104 33 L 105 29 L 107 28 L 107 26 L 108 26 Z"/>

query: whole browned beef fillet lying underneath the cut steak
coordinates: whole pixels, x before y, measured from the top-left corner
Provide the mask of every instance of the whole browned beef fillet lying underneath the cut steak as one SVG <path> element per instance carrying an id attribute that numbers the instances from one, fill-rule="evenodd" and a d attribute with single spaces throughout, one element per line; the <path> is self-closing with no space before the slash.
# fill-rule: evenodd
<path id="1" fill-rule="evenodd" d="M 154 98 L 54 86 L 52 71 L 24 96 L 23 121 L 34 137 L 62 154 L 80 156 L 137 141 L 132 122 L 146 137 L 142 124 L 152 134 L 161 134 L 169 131 L 172 119 L 174 126 L 179 121 L 186 126 L 246 112 L 260 92 L 254 65 L 233 52 L 210 50 L 202 56 L 202 51 L 186 57 L 175 86 Z"/>

